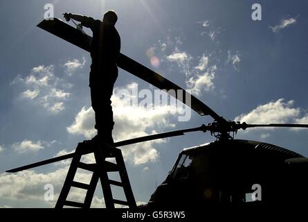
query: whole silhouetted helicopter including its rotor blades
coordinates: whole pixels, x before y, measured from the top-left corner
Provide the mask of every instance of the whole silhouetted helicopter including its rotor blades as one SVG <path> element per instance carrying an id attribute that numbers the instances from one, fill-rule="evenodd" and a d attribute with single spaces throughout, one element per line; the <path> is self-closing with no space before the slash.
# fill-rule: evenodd
<path id="1" fill-rule="evenodd" d="M 91 37 L 80 31 L 80 26 L 73 28 L 56 18 L 43 20 L 37 26 L 81 49 L 90 50 Z M 308 128 L 308 124 L 248 124 L 228 121 L 189 92 L 132 58 L 120 53 L 117 64 L 121 69 L 165 92 L 171 92 L 171 89 L 172 92 L 182 90 L 185 92 L 183 96 L 176 93 L 171 96 L 190 106 L 201 116 L 214 119 L 212 123 L 196 128 L 114 143 L 114 147 L 120 147 L 196 131 L 210 133 L 215 137 L 214 142 L 183 149 L 167 178 L 157 187 L 149 202 L 141 207 L 151 209 L 170 206 L 288 204 L 302 202 L 308 198 L 308 183 L 305 180 L 308 170 L 307 157 L 273 144 L 234 139 L 238 130 L 247 128 Z M 53 157 L 6 172 L 15 173 L 73 156 L 74 153 Z"/>

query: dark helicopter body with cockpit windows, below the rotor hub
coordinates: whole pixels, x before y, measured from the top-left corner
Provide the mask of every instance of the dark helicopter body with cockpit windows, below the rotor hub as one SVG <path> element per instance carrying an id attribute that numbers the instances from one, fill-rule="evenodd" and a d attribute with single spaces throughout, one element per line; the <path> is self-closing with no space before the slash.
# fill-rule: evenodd
<path id="1" fill-rule="evenodd" d="M 185 148 L 148 207 L 200 207 L 307 198 L 308 159 L 285 148 L 226 139 Z"/>

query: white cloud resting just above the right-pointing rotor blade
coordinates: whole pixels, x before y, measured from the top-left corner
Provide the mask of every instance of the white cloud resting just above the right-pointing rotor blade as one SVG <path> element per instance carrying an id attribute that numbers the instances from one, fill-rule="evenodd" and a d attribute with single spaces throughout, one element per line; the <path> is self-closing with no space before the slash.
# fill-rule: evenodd
<path id="1" fill-rule="evenodd" d="M 246 114 L 235 117 L 235 121 L 246 123 L 290 123 L 298 118 L 300 108 L 293 108 L 294 101 L 284 99 L 259 105 Z"/>

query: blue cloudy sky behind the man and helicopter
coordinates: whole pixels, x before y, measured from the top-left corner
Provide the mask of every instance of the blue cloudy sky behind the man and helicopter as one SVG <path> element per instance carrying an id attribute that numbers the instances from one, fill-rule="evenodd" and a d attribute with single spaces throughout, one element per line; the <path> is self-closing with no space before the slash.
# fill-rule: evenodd
<path id="1" fill-rule="evenodd" d="M 225 119 L 308 123 L 307 1 L 2 0 L 0 207 L 54 207 L 69 161 L 4 172 L 71 153 L 78 142 L 96 135 L 88 87 L 91 58 L 36 27 L 46 3 L 53 4 L 60 19 L 63 12 L 102 19 L 103 12 L 115 10 L 123 54 L 190 89 Z M 262 8 L 261 20 L 252 19 L 253 3 Z M 132 105 L 136 95 L 119 93 L 148 89 L 154 94 L 156 88 L 119 70 L 112 97 L 115 141 L 212 121 L 194 111 L 189 121 L 179 121 L 167 106 L 149 110 Z M 259 128 L 239 131 L 236 138 L 308 155 L 308 130 Z M 214 139 L 208 133 L 188 133 L 123 147 L 136 201 L 147 203 L 183 148 Z M 78 172 L 78 180 L 89 180 L 89 174 Z M 48 185 L 54 189 L 53 200 L 44 198 Z M 115 194 L 123 196 L 120 190 Z M 82 194 L 71 191 L 71 198 L 81 200 Z M 91 207 L 103 205 L 98 187 Z"/>

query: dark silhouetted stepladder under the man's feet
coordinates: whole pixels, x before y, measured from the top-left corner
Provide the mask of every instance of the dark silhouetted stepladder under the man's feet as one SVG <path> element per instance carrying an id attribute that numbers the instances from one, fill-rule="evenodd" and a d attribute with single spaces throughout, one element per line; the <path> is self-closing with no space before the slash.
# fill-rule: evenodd
<path id="1" fill-rule="evenodd" d="M 82 162 L 82 156 L 90 153 L 93 153 L 95 163 L 89 164 Z M 111 158 L 114 162 L 108 161 Z M 75 175 L 78 169 L 90 171 L 90 173 L 92 173 L 89 183 L 75 181 Z M 111 180 L 108 176 L 109 172 L 118 173 L 120 181 Z M 100 185 L 102 186 L 102 194 L 104 196 L 106 208 L 115 208 L 116 205 L 123 205 L 129 208 L 136 207 L 136 201 L 129 182 L 129 176 L 125 167 L 122 151 L 119 148 L 109 146 L 103 142 L 85 140 L 84 142 L 80 142 L 75 149 L 69 171 L 60 192 L 60 196 L 57 199 L 55 208 L 90 208 L 93 195 L 98 185 L 98 180 L 100 180 Z M 123 189 L 126 199 L 119 200 L 114 198 L 111 186 L 116 186 Z M 83 202 L 68 199 L 70 190 L 73 187 L 83 189 L 85 191 Z"/>

